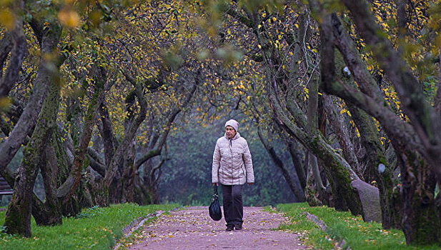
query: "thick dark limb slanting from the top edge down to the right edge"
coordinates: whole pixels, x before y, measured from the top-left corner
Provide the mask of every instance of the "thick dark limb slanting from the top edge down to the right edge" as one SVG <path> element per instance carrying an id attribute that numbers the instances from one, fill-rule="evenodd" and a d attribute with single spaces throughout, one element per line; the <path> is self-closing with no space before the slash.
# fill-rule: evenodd
<path id="1" fill-rule="evenodd" d="M 425 100 L 425 95 L 410 67 L 402 59 L 400 50 L 396 51 L 387 36 L 382 36 L 380 26 L 375 22 L 366 1 L 342 0 L 353 16 L 358 30 L 379 61 L 387 77 L 395 86 L 406 115 L 412 121 L 422 150 L 420 154 L 429 161 L 431 171 L 437 181 L 441 181 L 441 117 Z M 393 63 L 391 63 L 393 62 Z"/>

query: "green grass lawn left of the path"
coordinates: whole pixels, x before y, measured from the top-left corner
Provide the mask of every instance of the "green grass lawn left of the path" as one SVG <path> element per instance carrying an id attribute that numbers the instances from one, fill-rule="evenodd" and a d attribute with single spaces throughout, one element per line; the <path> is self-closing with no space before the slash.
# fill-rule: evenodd
<path id="1" fill-rule="evenodd" d="M 36 226 L 32 219 L 31 238 L 0 233 L 0 249 L 111 249 L 123 236 L 124 226 L 135 218 L 177 207 L 177 204 L 93 207 L 84 209 L 77 218 L 64 218 L 60 226 Z M 1 224 L 4 223 L 4 214 L 5 211 L 0 213 Z"/>

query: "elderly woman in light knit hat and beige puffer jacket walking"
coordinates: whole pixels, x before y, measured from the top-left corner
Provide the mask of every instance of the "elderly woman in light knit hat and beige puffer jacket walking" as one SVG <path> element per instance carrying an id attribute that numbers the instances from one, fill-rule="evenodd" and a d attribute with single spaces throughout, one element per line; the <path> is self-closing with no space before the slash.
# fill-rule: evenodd
<path id="1" fill-rule="evenodd" d="M 213 153 L 212 182 L 220 182 L 224 199 L 226 231 L 242 229 L 244 207 L 242 186 L 254 184 L 254 171 L 247 140 L 240 136 L 239 123 L 233 119 L 225 123 L 225 134 L 217 139 Z"/>

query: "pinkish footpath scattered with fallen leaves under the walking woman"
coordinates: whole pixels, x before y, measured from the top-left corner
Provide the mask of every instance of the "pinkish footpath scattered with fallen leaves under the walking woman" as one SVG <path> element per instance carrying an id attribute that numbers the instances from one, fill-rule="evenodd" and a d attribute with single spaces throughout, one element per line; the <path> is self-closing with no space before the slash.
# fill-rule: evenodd
<path id="1" fill-rule="evenodd" d="M 193 206 L 144 226 L 142 239 L 129 249 L 307 249 L 298 235 L 272 230 L 282 223 L 281 214 L 244 207 L 244 229 L 227 232 L 224 218 L 213 221 L 207 206 Z"/>

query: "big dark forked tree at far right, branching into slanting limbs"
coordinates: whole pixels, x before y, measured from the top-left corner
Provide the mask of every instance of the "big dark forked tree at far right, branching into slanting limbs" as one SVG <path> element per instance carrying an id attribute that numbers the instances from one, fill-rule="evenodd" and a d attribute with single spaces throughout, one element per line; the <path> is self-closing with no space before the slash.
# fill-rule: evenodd
<path id="1" fill-rule="evenodd" d="M 384 36 L 378 36 L 380 28 L 373 21 L 370 7 L 365 1 L 343 2 L 354 14 L 355 22 L 367 44 L 374 48 L 374 55 L 380 61 L 385 74 L 390 77 L 397 90 L 400 89 L 397 94 L 412 122 L 399 119 L 385 104 L 385 100 L 372 91 L 372 77 L 366 71 L 365 64 L 360 63 L 360 57 L 355 56 L 356 53 L 348 52 L 355 51 L 354 45 L 336 14 L 320 16 L 324 20 L 321 22 L 322 28 L 326 27 L 321 29 L 321 35 L 329 39 L 326 43 L 322 42 L 322 46 L 326 45 L 328 48 L 321 51 L 322 64 L 326 65 L 323 67 L 324 71 L 322 70 L 322 76 L 326 77 L 326 81 L 323 81 L 324 89 L 374 116 L 392 141 L 401 167 L 402 189 L 396 200 L 403 204 L 399 213 L 402 214 L 401 226 L 407 244 L 440 244 L 440 214 L 435 205 L 434 191 L 436 179 L 440 179 L 438 166 L 441 154 L 434 154 L 437 149 L 433 146 L 439 139 L 439 134 L 434 134 L 433 131 L 440 131 L 436 129 L 441 125 L 440 117 L 432 114 L 435 109 L 428 106 L 430 104 L 422 97 L 417 80 L 399 53 Z M 342 52 L 361 91 L 334 79 L 333 44 Z M 397 208 L 396 203 L 393 206 Z"/>

